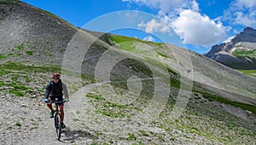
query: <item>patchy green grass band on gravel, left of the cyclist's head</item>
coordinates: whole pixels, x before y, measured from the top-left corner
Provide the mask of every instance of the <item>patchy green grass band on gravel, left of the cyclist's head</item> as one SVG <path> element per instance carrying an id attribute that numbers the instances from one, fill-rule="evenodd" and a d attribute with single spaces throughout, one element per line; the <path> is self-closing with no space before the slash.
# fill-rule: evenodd
<path id="1" fill-rule="evenodd" d="M 34 67 L 14 62 L 4 63 L 0 68 L 0 87 L 3 87 L 3 94 L 28 97 L 43 96 L 47 74 L 61 70 L 60 67 Z"/>

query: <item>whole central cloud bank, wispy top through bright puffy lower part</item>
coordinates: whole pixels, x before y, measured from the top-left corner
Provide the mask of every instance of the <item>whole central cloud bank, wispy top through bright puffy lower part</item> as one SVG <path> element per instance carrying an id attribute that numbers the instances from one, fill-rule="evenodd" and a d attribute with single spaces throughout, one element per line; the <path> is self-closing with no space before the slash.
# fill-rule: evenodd
<path id="1" fill-rule="evenodd" d="M 183 44 L 204 46 L 217 44 L 226 36 L 226 28 L 222 23 L 211 20 L 207 15 L 201 15 L 199 4 L 195 0 L 123 0 L 123 2 L 144 4 L 159 9 L 158 19 L 138 24 L 148 33 L 170 34 L 174 30 L 180 38 L 183 38 Z"/>

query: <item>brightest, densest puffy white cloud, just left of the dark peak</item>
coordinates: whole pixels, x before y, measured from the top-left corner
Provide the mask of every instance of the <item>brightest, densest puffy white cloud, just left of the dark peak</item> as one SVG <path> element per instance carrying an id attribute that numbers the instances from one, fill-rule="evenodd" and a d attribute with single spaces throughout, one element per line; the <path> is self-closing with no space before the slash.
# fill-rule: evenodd
<path id="1" fill-rule="evenodd" d="M 184 44 L 208 46 L 218 43 L 226 36 L 225 27 L 220 22 L 190 9 L 179 14 L 177 20 L 172 22 L 172 28 L 183 38 Z"/>

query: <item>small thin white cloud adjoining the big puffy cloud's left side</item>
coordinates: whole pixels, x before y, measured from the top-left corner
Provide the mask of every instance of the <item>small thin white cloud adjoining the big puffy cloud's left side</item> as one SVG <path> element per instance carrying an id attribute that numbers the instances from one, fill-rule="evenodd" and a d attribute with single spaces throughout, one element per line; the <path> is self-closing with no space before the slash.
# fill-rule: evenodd
<path id="1" fill-rule="evenodd" d="M 167 33 L 171 32 L 171 27 L 168 26 L 164 21 L 156 21 L 155 19 L 152 19 L 148 21 L 147 23 L 141 22 L 138 24 L 139 27 L 144 28 L 145 32 L 153 33 L 153 32 L 162 32 Z"/>

